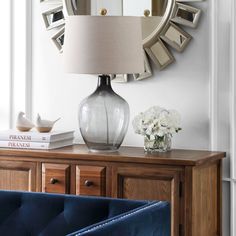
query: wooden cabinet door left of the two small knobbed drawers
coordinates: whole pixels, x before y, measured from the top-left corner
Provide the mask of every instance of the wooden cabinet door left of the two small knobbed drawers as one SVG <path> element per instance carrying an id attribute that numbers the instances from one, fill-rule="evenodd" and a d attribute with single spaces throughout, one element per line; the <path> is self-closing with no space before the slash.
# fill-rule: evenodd
<path id="1" fill-rule="evenodd" d="M 36 191 L 36 163 L 0 161 L 0 189 Z"/>

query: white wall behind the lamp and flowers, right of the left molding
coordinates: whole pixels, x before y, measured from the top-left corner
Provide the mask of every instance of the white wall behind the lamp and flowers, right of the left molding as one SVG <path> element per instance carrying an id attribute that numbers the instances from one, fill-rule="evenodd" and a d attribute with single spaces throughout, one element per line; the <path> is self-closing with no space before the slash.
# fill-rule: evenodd
<path id="1" fill-rule="evenodd" d="M 154 69 L 151 79 L 113 84 L 113 88 L 128 101 L 131 120 L 152 105 L 177 109 L 182 115 L 183 131 L 174 137 L 174 148 L 227 151 L 223 222 L 224 235 L 230 235 L 231 230 L 233 236 L 236 235 L 232 210 L 236 171 L 232 170 L 236 168 L 230 172 L 230 162 L 233 164 L 236 160 L 232 148 L 235 141 L 235 131 L 232 132 L 235 116 L 232 114 L 236 107 L 233 103 L 235 91 L 231 86 L 234 71 L 229 60 L 232 42 L 235 42 L 235 33 L 232 34 L 235 19 L 231 10 L 235 3 L 234 0 L 208 0 L 194 5 L 203 9 L 202 18 L 198 29 L 186 28 L 193 40 L 185 52 L 178 54 L 172 50 L 176 63 L 161 72 Z M 95 89 L 96 77 L 63 72 L 62 55 L 50 40 L 54 32 L 45 30 L 40 14 L 39 1 L 33 1 L 32 115 L 40 113 L 49 119 L 62 117 L 57 129 L 78 131 L 78 104 Z M 232 53 L 231 59 L 234 56 Z M 77 141 L 82 142 L 78 132 Z M 143 139 L 134 134 L 130 125 L 123 144 L 142 146 Z"/>

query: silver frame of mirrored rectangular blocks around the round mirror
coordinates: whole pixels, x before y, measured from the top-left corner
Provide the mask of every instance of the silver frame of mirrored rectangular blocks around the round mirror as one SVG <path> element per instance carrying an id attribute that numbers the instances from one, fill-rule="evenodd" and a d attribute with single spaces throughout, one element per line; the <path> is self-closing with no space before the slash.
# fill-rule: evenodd
<path id="1" fill-rule="evenodd" d="M 42 12 L 43 18 L 45 13 L 51 12 L 55 8 L 63 8 L 64 16 L 73 15 L 73 7 L 70 0 L 39 0 L 41 5 L 44 5 Z M 191 6 L 191 2 L 202 2 L 204 0 L 167 0 L 166 11 L 163 19 L 156 29 L 143 40 L 144 49 L 144 64 L 145 72 L 142 74 L 133 74 L 132 77 L 135 81 L 150 78 L 153 75 L 150 60 L 156 65 L 158 70 L 163 70 L 175 61 L 171 49 L 177 52 L 183 52 L 187 45 L 190 43 L 192 37 L 183 27 L 196 28 L 201 16 L 201 10 Z M 187 4 L 186 4 L 187 3 Z M 193 20 L 188 21 L 184 17 L 178 16 L 178 11 L 184 11 L 193 15 Z M 45 19 L 44 19 L 45 21 Z M 46 25 L 47 26 L 47 25 Z M 61 22 L 59 26 L 46 27 L 47 30 L 54 30 L 55 33 L 51 38 L 57 49 L 63 52 L 63 45 L 60 45 L 56 41 L 57 37 L 62 36 L 64 32 L 64 22 Z M 171 34 L 175 32 L 175 38 Z M 176 36 L 179 39 L 176 40 Z M 128 75 L 113 76 L 114 82 L 128 82 Z"/>

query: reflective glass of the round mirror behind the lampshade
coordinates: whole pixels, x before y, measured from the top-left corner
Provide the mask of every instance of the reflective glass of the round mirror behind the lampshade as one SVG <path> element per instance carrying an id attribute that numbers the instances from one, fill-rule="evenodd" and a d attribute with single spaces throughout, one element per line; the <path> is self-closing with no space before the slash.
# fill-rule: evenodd
<path id="1" fill-rule="evenodd" d="M 99 15 L 106 8 L 108 15 L 142 16 L 143 39 L 159 26 L 168 0 L 67 0 L 74 15 Z"/>

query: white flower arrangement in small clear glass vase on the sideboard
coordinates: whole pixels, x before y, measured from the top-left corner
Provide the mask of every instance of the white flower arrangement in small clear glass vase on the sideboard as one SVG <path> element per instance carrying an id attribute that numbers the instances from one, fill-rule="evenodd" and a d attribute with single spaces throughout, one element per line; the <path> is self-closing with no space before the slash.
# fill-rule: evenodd
<path id="1" fill-rule="evenodd" d="M 133 122 L 135 133 L 144 136 L 146 151 L 167 151 L 171 147 L 171 137 L 180 128 L 180 114 L 154 106 L 138 114 Z"/>

